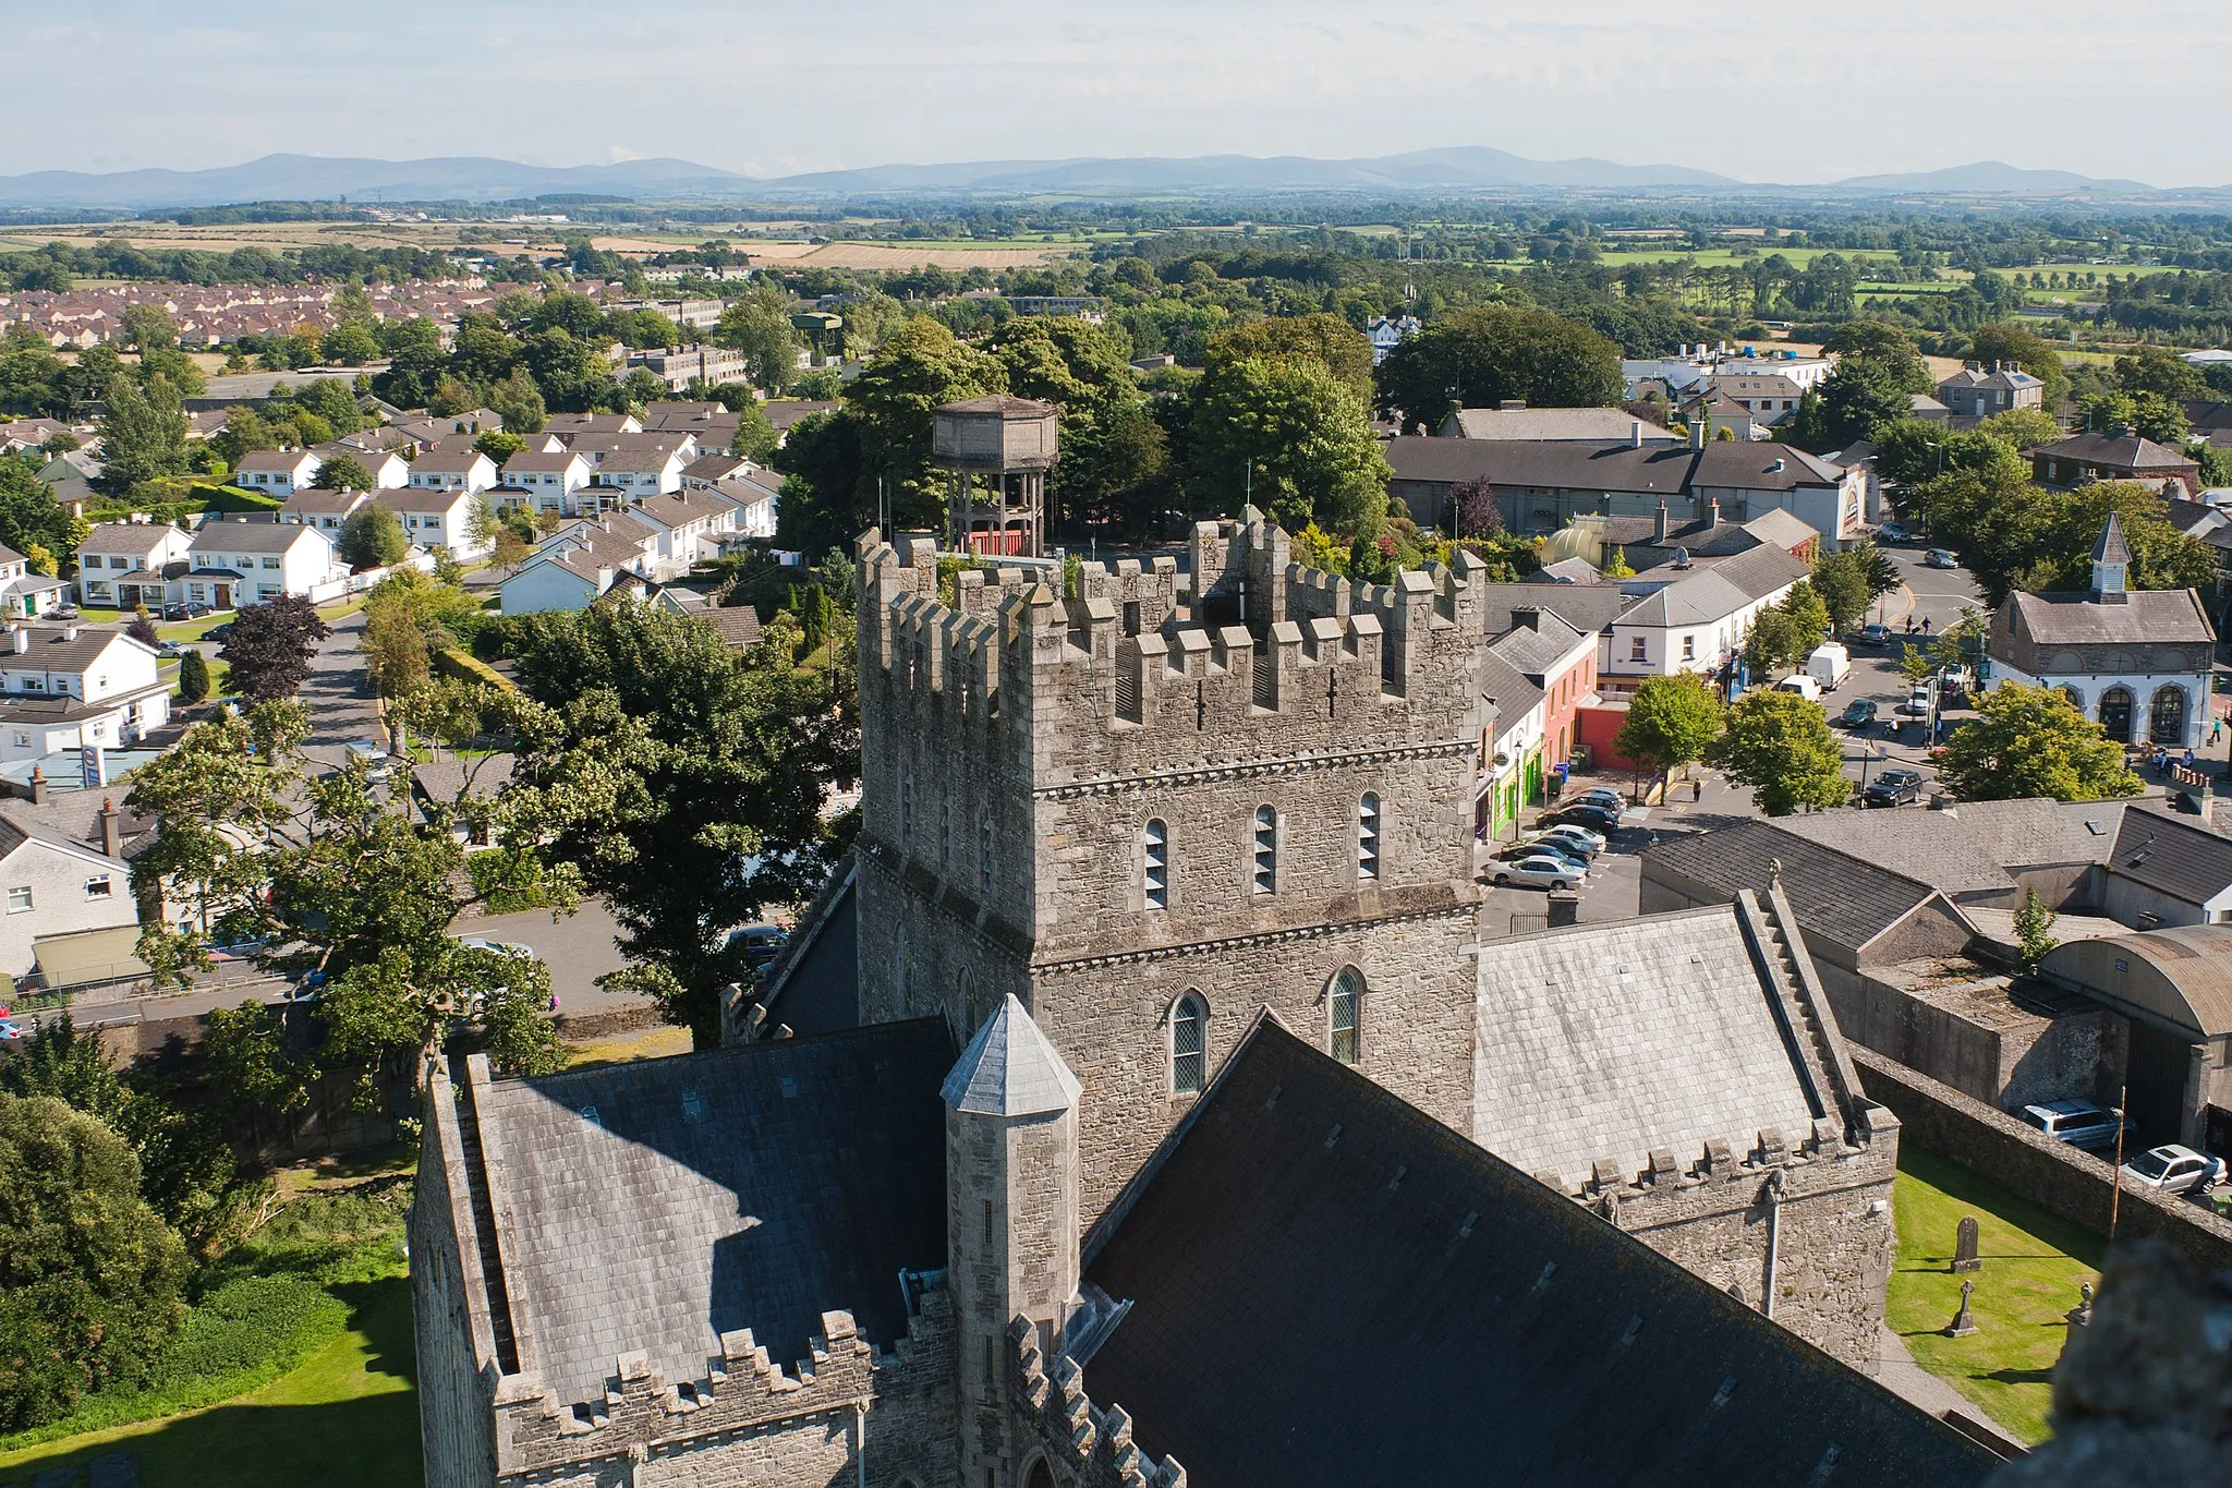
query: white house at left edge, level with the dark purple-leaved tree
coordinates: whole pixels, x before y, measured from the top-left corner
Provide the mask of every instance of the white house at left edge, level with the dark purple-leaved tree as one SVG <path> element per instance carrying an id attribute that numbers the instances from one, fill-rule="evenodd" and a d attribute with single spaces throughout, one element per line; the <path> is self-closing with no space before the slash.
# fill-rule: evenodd
<path id="1" fill-rule="evenodd" d="M 121 629 L 16 625 L 0 640 L 0 761 L 116 750 L 167 721 L 154 647 Z"/>

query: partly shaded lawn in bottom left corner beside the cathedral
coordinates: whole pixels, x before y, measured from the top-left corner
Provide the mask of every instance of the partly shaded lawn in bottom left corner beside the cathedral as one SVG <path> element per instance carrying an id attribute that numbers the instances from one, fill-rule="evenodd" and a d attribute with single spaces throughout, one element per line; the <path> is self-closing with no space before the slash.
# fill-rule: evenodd
<path id="1" fill-rule="evenodd" d="M 29 1484 L 109 1452 L 138 1452 L 141 1488 L 413 1488 L 420 1481 L 411 1281 L 346 1283 L 348 1332 L 290 1374 L 163 1421 L 0 1455 L 0 1484 Z"/>

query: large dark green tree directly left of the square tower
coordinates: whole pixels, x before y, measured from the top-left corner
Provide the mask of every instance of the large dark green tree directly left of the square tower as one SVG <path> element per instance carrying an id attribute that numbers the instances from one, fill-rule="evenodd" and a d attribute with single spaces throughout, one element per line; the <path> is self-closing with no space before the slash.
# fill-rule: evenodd
<path id="1" fill-rule="evenodd" d="M 522 779 L 612 783 L 556 852 L 607 897 L 620 948 L 656 970 L 647 986 L 701 1049 L 719 1042 L 721 986 L 748 970 L 725 933 L 806 899 L 846 846 L 821 812 L 859 776 L 850 638 L 828 656 L 828 671 L 770 642 L 737 656 L 712 627 L 636 602 L 538 616 L 513 645 L 520 685 L 558 718 L 558 747 Z"/>

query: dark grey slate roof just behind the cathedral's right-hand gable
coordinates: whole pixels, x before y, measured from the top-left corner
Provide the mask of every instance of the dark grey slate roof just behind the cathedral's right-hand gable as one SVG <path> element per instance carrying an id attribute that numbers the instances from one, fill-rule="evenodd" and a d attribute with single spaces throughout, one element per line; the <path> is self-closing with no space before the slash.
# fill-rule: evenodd
<path id="1" fill-rule="evenodd" d="M 1766 821 L 1667 837 L 1643 852 L 1645 870 L 1658 863 L 1730 899 L 1739 888 L 1763 890 L 1777 859 L 1783 863 L 1783 897 L 1806 933 L 1850 950 L 1866 948 L 1935 895 L 1922 879 L 1908 879 Z"/>

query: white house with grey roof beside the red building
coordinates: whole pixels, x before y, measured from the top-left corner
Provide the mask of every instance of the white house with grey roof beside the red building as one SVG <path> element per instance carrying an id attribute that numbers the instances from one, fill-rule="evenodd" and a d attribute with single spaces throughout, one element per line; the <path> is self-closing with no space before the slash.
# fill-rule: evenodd
<path id="1" fill-rule="evenodd" d="M 1772 542 L 1712 567 L 1638 573 L 1623 589 L 1647 591 L 1605 627 L 1598 687 L 1625 696 L 1647 676 L 1719 671 L 1743 649 L 1759 611 L 1781 602 L 1808 573 L 1806 560 Z"/>

